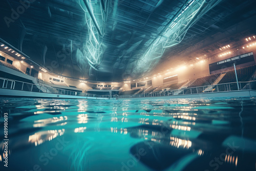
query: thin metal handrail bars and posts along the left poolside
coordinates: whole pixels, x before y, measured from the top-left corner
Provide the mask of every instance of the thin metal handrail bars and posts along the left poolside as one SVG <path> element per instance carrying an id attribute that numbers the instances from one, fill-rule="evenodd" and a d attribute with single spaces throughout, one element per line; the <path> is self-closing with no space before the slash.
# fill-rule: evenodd
<path id="1" fill-rule="evenodd" d="M 10 89 L 12 90 L 15 90 L 15 83 L 16 82 L 20 82 L 22 83 L 22 90 L 21 91 L 25 91 L 24 90 L 24 84 L 29 84 L 31 85 L 31 89 L 29 90 L 30 92 L 33 92 L 33 86 L 35 87 L 39 87 L 39 92 L 40 93 L 50 93 L 50 94 L 60 94 L 60 95 L 71 95 L 71 96 L 85 96 L 85 97 L 99 97 L 99 98 L 110 98 L 109 95 L 95 95 L 95 94 L 89 94 L 89 93 L 82 93 L 82 92 L 77 92 L 77 91 L 72 91 L 72 90 L 66 90 L 66 89 L 58 89 L 58 88 L 53 88 L 51 87 L 46 87 L 46 86 L 42 86 L 40 84 L 33 84 L 33 83 L 29 83 L 29 82 L 24 82 L 24 81 L 18 81 L 18 80 L 13 80 L 13 79 L 7 79 L 7 78 L 2 78 L 0 77 L 0 80 L 4 80 L 3 82 L 3 85 L 0 85 L 0 88 L 3 88 L 3 89 L 9 89 L 7 88 L 8 86 L 8 81 L 12 81 L 13 84 L 11 84 L 11 87 Z M 5 82 L 7 81 L 6 83 L 6 86 L 5 86 Z M 41 88 L 45 88 L 46 89 L 46 92 L 42 92 L 42 89 Z M 49 89 L 52 89 L 54 90 L 55 92 L 51 92 Z M 67 94 L 66 94 L 67 93 Z"/>

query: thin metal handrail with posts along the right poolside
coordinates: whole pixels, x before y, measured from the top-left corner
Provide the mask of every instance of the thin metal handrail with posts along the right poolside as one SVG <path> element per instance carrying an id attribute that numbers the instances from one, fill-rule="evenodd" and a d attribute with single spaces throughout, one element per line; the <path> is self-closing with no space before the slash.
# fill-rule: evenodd
<path id="1" fill-rule="evenodd" d="M 241 83 L 249 83 L 249 89 L 247 90 L 251 90 L 251 83 L 252 82 L 256 82 L 256 81 L 240 81 L 239 82 L 239 87 L 240 90 L 243 89 L 243 87 L 245 87 L 246 85 L 244 85 L 243 87 L 241 86 Z M 231 90 L 230 84 L 237 84 L 237 82 L 228 82 L 228 83 L 221 83 L 221 84 L 210 84 L 207 86 L 199 86 L 199 87 L 191 87 L 191 88 L 183 88 L 183 89 L 173 89 L 173 90 L 165 90 L 165 91 L 157 91 L 157 92 L 150 92 L 150 93 L 146 93 L 146 94 L 135 94 L 135 95 L 121 95 L 119 96 L 119 98 L 141 98 L 141 97 L 157 97 L 157 96 L 173 96 L 174 93 L 177 93 L 177 95 L 185 95 L 185 94 L 201 94 L 201 93 L 206 93 L 206 92 L 227 92 L 227 91 L 237 91 L 237 90 Z M 224 87 L 224 91 L 220 91 L 219 86 L 223 86 Z M 206 88 L 210 87 L 211 89 L 206 90 Z M 199 89 L 203 88 L 202 92 L 198 92 Z M 192 90 L 196 89 L 196 93 L 193 93 Z M 189 91 L 190 93 L 184 93 L 184 90 Z M 182 94 L 180 94 L 182 92 Z"/>

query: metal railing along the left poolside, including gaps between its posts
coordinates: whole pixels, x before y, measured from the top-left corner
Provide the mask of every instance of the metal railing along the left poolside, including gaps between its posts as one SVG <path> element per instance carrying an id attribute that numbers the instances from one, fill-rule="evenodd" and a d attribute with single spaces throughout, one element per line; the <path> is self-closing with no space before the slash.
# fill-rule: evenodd
<path id="1" fill-rule="evenodd" d="M 71 95 L 71 96 L 110 98 L 109 95 L 95 95 L 95 94 L 82 93 L 82 92 L 77 92 L 77 91 L 72 91 L 67 89 L 46 87 L 40 84 L 33 84 L 33 83 L 17 81 L 17 80 L 2 78 L 2 77 L 0 77 L 0 89 L 12 89 L 12 90 L 20 90 L 20 91 L 51 93 L 51 94 L 60 94 L 60 95 Z"/>

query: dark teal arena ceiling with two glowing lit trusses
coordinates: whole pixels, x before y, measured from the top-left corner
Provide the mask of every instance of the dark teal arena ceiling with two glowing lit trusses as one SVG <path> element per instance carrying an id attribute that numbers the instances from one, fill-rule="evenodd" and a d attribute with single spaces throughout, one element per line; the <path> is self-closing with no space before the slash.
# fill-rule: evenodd
<path id="1" fill-rule="evenodd" d="M 175 67 L 191 60 L 177 54 L 254 17 L 255 5 L 254 0 L 3 0 L 0 37 L 56 74 L 122 81 L 159 71 L 165 61 Z"/>

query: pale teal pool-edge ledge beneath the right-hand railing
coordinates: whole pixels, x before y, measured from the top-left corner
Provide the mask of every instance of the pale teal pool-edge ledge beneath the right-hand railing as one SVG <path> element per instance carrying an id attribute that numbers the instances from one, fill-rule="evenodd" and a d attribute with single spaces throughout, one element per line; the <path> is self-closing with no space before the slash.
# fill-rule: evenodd
<path id="1" fill-rule="evenodd" d="M 236 90 L 227 92 L 208 92 L 198 94 L 184 94 L 172 96 L 157 96 L 157 97 L 137 97 L 137 98 L 119 98 L 126 99 L 173 99 L 173 98 L 218 98 L 218 97 L 256 97 L 256 90 Z"/>

